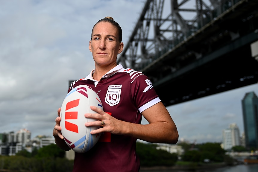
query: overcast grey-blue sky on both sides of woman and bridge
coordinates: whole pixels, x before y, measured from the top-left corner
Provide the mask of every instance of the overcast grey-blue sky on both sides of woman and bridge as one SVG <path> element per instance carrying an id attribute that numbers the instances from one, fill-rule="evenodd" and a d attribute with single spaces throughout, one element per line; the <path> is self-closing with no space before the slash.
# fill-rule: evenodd
<path id="1" fill-rule="evenodd" d="M 32 137 L 51 136 L 68 81 L 94 68 L 88 49 L 93 25 L 112 16 L 126 46 L 144 2 L 0 0 L 0 133 L 27 128 Z M 230 123 L 242 133 L 241 100 L 250 91 L 258 95 L 258 85 L 168 107 L 179 139 L 222 141 Z"/>

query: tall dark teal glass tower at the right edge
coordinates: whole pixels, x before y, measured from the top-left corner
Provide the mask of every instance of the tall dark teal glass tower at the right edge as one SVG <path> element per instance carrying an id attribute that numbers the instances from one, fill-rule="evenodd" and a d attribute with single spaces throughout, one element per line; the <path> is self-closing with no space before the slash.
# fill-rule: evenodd
<path id="1" fill-rule="evenodd" d="M 242 99 L 242 111 L 245 130 L 245 145 L 258 148 L 258 98 L 254 92 L 248 92 Z"/>

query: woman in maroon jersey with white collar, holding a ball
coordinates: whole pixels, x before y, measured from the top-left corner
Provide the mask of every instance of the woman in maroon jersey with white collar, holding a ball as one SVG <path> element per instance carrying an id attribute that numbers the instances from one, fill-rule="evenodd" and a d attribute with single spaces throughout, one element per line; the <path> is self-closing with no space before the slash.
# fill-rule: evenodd
<path id="1" fill-rule="evenodd" d="M 137 139 L 177 143 L 176 125 L 148 77 L 140 71 L 117 65 L 117 54 L 123 47 L 122 29 L 113 18 L 106 17 L 94 25 L 89 50 L 95 69 L 86 78 L 73 82 L 68 92 L 85 84 L 98 93 L 105 112 L 91 106 L 96 113 L 85 114 L 85 117 L 97 121 L 85 123 L 85 126 L 102 126 L 91 134 L 104 134 L 88 152 L 75 153 L 73 171 L 139 171 L 135 151 Z M 141 124 L 142 115 L 149 124 Z M 70 149 L 63 140 L 60 117 L 56 118 L 53 136 L 60 148 Z"/>

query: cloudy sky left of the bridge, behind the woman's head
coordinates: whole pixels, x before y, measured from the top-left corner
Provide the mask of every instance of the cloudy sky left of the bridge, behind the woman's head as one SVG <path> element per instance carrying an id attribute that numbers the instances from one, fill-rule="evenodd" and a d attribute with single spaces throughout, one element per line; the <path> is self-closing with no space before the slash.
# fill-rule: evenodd
<path id="1" fill-rule="evenodd" d="M 142 2 L 2 1 L 0 131 L 26 127 L 32 136 L 51 135 L 69 80 L 94 69 L 88 49 L 93 25 L 112 16 L 126 41 L 141 9 L 138 4 Z"/>

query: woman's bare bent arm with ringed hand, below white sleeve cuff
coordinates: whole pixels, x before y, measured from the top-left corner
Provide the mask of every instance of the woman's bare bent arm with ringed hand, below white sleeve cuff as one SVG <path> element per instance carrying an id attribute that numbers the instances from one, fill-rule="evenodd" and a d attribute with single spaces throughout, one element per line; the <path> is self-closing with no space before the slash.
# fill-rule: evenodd
<path id="1" fill-rule="evenodd" d="M 177 127 L 162 103 L 157 103 L 142 112 L 142 115 L 149 122 L 146 125 L 118 120 L 95 106 L 91 106 L 91 109 L 97 113 L 86 113 L 85 117 L 94 118 L 97 121 L 86 122 L 86 127 L 100 126 L 101 121 L 105 122 L 103 127 L 92 130 L 91 134 L 110 132 L 112 134 L 132 136 L 153 143 L 175 144 L 178 141 Z"/>

